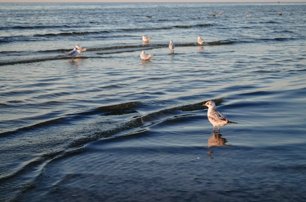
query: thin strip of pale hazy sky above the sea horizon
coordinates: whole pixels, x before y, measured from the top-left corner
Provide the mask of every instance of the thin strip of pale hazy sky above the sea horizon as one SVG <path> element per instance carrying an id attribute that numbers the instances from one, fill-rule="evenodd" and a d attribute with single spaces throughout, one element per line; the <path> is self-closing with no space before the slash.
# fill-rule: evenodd
<path id="1" fill-rule="evenodd" d="M 277 3 L 278 1 L 271 0 L 0 0 L 0 2 L 10 2 L 10 3 L 19 3 L 19 2 L 269 2 Z M 306 2 L 306 0 L 285 0 L 280 2 Z"/>

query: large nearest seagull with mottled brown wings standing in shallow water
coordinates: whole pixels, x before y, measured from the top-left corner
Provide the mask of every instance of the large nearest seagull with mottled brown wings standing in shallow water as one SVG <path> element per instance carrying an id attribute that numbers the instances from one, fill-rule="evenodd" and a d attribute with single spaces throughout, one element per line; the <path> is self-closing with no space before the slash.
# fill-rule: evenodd
<path id="1" fill-rule="evenodd" d="M 202 106 L 207 106 L 207 117 L 209 122 L 214 125 L 214 132 L 215 132 L 215 126 L 219 126 L 218 130 L 220 132 L 220 126 L 224 126 L 226 124 L 237 124 L 233 121 L 227 120 L 227 117 L 222 114 L 221 112 L 218 112 L 216 110 L 216 104 L 213 101 L 208 101 L 207 103 L 203 104 Z"/>

